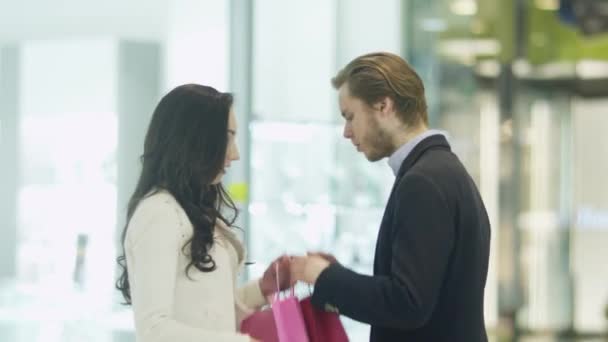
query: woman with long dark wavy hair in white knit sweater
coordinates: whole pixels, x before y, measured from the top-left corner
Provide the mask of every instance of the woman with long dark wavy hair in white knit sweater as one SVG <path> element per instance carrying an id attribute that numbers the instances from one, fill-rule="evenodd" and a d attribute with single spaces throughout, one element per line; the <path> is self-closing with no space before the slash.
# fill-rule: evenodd
<path id="1" fill-rule="evenodd" d="M 123 232 L 117 282 L 133 305 L 139 342 L 249 342 L 240 321 L 289 286 L 289 260 L 241 288 L 245 260 L 236 208 L 221 180 L 239 159 L 232 95 L 179 86 L 158 104 Z M 229 219 L 226 210 L 233 215 Z"/>

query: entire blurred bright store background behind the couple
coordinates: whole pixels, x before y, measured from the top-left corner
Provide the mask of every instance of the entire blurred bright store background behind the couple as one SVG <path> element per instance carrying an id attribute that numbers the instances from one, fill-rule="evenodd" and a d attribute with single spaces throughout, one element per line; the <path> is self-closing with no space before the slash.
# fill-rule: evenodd
<path id="1" fill-rule="evenodd" d="M 236 93 L 243 278 L 306 250 L 371 272 L 393 176 L 342 138 L 329 79 L 377 50 L 418 70 L 484 197 L 491 339 L 606 340 L 608 1 L 0 0 L 0 341 L 133 341 L 118 232 L 187 82 Z"/>

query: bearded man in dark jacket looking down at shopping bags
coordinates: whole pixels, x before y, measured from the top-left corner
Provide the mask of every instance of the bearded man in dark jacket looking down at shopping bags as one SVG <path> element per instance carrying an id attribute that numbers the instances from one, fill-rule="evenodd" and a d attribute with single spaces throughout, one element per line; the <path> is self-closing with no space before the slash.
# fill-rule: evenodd
<path id="1" fill-rule="evenodd" d="M 344 137 L 396 179 L 378 232 L 374 275 L 331 256 L 293 257 L 312 302 L 371 325 L 370 341 L 487 341 L 483 297 L 490 224 L 475 183 L 441 132 L 428 129 L 424 86 L 399 56 L 372 53 L 332 80 Z"/>

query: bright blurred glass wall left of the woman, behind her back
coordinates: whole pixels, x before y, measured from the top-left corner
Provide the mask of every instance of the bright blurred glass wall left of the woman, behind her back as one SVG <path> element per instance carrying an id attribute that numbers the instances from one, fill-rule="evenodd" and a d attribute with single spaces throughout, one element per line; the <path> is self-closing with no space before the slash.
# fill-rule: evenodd
<path id="1" fill-rule="evenodd" d="M 226 90 L 229 6 L 64 5 L 0 12 L 0 340 L 132 341 L 115 258 L 145 129 L 161 88 Z"/>

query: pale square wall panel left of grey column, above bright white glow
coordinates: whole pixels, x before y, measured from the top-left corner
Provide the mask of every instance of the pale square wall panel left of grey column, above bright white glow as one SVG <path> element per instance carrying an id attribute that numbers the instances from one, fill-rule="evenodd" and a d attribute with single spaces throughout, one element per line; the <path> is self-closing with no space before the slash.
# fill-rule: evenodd
<path id="1" fill-rule="evenodd" d="M 22 115 L 116 111 L 115 41 L 45 40 L 21 47 Z"/>

